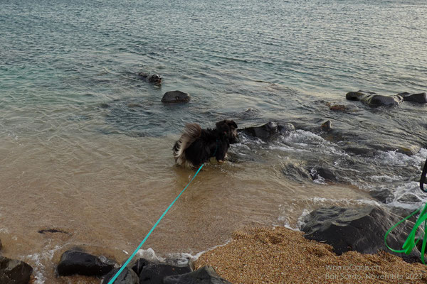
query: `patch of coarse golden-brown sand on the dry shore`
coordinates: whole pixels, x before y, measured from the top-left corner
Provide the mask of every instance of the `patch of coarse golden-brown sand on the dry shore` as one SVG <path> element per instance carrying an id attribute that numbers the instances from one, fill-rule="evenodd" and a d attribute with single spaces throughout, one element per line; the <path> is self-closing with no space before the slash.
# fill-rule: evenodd
<path id="1" fill-rule="evenodd" d="M 237 231 L 225 246 L 204 253 L 196 267 L 213 266 L 233 284 L 251 283 L 427 283 L 427 267 L 381 251 L 349 251 L 310 241 L 284 227 Z"/>

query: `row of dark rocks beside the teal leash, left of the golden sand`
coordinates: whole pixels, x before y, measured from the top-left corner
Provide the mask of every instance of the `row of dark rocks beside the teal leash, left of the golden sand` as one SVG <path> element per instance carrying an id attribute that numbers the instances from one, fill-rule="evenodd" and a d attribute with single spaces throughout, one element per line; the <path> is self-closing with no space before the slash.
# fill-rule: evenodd
<path id="1" fill-rule="evenodd" d="M 204 266 L 194 271 L 191 260 L 168 258 L 151 261 L 139 258 L 130 268 L 125 268 L 115 284 L 231 284 L 222 279 L 214 268 Z M 105 256 L 93 256 L 81 251 L 65 251 L 57 266 L 59 276 L 86 275 L 102 277 L 107 284 L 120 267 Z"/>

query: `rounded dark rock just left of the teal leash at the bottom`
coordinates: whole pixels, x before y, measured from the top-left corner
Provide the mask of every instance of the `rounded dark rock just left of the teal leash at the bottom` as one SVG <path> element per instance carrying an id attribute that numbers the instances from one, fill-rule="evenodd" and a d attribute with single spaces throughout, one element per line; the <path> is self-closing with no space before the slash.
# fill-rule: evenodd
<path id="1" fill-rule="evenodd" d="M 87 275 L 102 276 L 109 273 L 115 266 L 113 261 L 103 257 L 101 260 L 97 256 L 80 251 L 65 251 L 60 257 L 60 262 L 56 268 L 58 275 Z"/>

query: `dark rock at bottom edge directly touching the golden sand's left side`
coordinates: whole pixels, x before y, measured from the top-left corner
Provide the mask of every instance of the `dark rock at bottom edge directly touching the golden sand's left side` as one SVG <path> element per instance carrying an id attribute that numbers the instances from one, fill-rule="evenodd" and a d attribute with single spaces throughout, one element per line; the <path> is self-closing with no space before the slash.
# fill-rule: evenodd
<path id="1" fill-rule="evenodd" d="M 227 280 L 221 278 L 216 274 L 212 266 L 204 266 L 197 269 L 196 271 L 175 275 L 167 276 L 163 280 L 164 284 L 231 284 Z"/>

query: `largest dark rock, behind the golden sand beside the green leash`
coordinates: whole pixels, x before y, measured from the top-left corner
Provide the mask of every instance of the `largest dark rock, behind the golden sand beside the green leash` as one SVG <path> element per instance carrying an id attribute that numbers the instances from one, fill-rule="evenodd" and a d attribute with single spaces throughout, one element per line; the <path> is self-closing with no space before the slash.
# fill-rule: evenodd
<path id="1" fill-rule="evenodd" d="M 384 245 L 384 234 L 400 219 L 380 207 L 320 208 L 305 218 L 305 238 L 325 242 L 333 246 L 334 252 L 346 251 L 376 253 L 379 249 L 391 252 Z M 407 222 L 398 226 L 387 237 L 391 248 L 399 249 L 404 244 L 413 224 Z M 404 253 L 393 253 L 405 256 Z M 410 256 L 419 256 L 416 249 Z"/>

